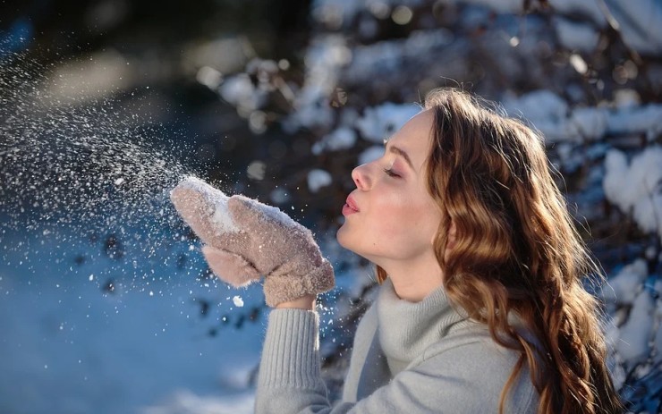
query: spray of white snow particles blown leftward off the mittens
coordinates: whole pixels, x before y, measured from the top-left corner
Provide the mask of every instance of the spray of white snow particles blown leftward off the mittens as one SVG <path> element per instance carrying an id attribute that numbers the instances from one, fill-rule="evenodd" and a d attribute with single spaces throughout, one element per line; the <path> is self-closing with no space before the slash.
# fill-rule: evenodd
<path id="1" fill-rule="evenodd" d="M 0 61 L 0 258 L 53 249 L 75 269 L 92 243 L 108 273 L 157 277 L 168 261 L 186 270 L 194 240 L 168 194 L 191 174 L 175 154 L 190 148 L 150 120 L 157 92 L 90 97 L 58 67 Z"/>

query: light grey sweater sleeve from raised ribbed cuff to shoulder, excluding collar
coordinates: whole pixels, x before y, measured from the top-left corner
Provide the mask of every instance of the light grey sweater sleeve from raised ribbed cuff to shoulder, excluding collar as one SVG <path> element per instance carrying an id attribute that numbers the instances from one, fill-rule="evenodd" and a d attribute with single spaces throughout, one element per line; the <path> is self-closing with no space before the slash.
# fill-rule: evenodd
<path id="1" fill-rule="evenodd" d="M 332 406 L 320 374 L 318 315 L 301 309 L 276 309 L 269 315 L 256 413 L 497 412 L 513 358 L 497 346 L 465 342 L 402 371 L 361 401 Z M 535 390 L 522 377 L 505 412 L 535 412 Z"/>

